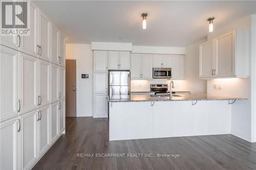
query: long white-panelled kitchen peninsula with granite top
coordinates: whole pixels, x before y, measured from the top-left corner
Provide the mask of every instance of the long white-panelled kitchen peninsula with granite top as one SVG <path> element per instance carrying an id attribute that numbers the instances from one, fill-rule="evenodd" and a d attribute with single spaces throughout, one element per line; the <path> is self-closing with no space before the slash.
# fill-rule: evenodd
<path id="1" fill-rule="evenodd" d="M 231 104 L 246 100 L 209 94 L 134 94 L 109 101 L 110 140 L 230 134 Z"/>

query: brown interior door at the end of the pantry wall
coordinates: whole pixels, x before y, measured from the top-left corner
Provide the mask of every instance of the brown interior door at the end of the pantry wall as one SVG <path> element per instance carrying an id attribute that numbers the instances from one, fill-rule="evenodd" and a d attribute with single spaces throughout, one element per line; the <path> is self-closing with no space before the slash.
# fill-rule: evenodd
<path id="1" fill-rule="evenodd" d="M 76 60 L 66 61 L 66 116 L 76 117 Z"/>

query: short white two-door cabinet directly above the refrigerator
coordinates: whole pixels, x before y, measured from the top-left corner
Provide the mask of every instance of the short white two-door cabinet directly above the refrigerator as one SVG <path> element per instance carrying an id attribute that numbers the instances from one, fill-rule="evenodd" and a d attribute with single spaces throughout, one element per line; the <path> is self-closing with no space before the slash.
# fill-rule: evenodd
<path id="1" fill-rule="evenodd" d="M 130 52 L 109 52 L 109 69 L 130 69 Z"/>

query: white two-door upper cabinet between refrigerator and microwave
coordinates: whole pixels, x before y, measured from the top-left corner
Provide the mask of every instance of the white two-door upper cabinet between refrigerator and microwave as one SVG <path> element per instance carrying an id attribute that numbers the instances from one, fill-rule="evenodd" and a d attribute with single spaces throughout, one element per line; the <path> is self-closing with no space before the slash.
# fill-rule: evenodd
<path id="1" fill-rule="evenodd" d="M 131 55 L 131 78 L 152 79 L 153 55 L 132 54 Z"/>

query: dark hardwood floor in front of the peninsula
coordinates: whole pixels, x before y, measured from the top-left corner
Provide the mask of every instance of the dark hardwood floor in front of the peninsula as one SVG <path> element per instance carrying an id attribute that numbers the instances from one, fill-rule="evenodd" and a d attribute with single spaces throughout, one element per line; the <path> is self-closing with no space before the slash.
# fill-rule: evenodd
<path id="1" fill-rule="evenodd" d="M 66 134 L 33 169 L 256 169 L 256 143 L 233 135 L 109 141 L 108 119 L 70 117 Z"/>

